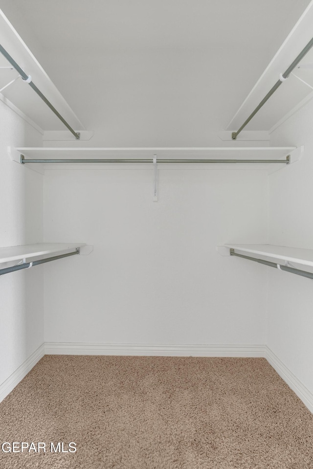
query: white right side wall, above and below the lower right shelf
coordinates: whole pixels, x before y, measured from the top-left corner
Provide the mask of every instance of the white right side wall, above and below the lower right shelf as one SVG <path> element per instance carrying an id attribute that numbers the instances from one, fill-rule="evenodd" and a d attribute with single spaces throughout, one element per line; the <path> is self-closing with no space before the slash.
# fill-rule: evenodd
<path id="1" fill-rule="evenodd" d="M 273 134 L 272 145 L 305 145 L 288 171 L 269 178 L 269 244 L 313 249 L 313 101 Z M 269 269 L 268 347 L 313 392 L 313 283 Z"/>

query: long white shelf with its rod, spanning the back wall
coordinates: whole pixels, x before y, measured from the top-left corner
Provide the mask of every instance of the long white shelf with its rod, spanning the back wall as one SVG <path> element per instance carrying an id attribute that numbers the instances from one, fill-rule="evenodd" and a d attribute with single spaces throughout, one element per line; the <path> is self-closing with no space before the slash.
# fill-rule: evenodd
<path id="1" fill-rule="evenodd" d="M 176 163 L 182 167 L 271 169 L 276 171 L 297 161 L 303 147 L 196 147 L 196 148 L 48 148 L 20 147 L 12 149 L 11 158 L 25 166 L 40 171 L 96 163 L 105 167 L 131 163 L 159 163 L 171 168 Z M 105 164 L 103 164 L 105 163 Z M 212 163 L 212 164 L 210 164 Z M 226 163 L 226 164 L 225 164 Z M 238 163 L 238 164 L 234 164 Z M 251 164 L 254 163 L 254 164 Z M 41 171 L 40 171 L 41 172 Z"/>

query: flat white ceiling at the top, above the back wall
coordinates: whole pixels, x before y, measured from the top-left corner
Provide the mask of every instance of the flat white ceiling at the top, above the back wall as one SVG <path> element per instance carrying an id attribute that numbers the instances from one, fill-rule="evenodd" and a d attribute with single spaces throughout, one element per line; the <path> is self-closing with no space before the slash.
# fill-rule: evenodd
<path id="1" fill-rule="evenodd" d="M 1 0 L 18 31 L 42 47 L 268 49 L 309 1 Z M 21 31 L 22 32 L 22 31 Z M 279 44 L 279 43 L 278 43 Z M 273 45 L 275 48 L 277 45 Z"/>

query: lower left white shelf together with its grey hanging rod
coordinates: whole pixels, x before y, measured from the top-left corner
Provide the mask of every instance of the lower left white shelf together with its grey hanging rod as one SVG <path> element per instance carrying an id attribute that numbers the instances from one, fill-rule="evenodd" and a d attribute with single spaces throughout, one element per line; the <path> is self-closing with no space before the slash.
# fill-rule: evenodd
<path id="1" fill-rule="evenodd" d="M 92 246 L 86 246 L 85 243 L 38 243 L 0 247 L 0 275 L 77 255 L 82 248 L 85 248 L 84 254 L 92 251 Z M 12 262 L 15 264 L 12 265 Z"/>

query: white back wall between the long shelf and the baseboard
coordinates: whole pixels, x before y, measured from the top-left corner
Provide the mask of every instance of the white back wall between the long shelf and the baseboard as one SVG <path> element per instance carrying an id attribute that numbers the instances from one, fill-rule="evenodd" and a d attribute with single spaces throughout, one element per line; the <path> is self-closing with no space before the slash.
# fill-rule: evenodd
<path id="1" fill-rule="evenodd" d="M 159 170 L 152 192 L 152 169 L 46 171 L 45 241 L 94 251 L 45 265 L 45 341 L 264 344 L 264 267 L 215 246 L 266 241 L 267 172 Z"/>

